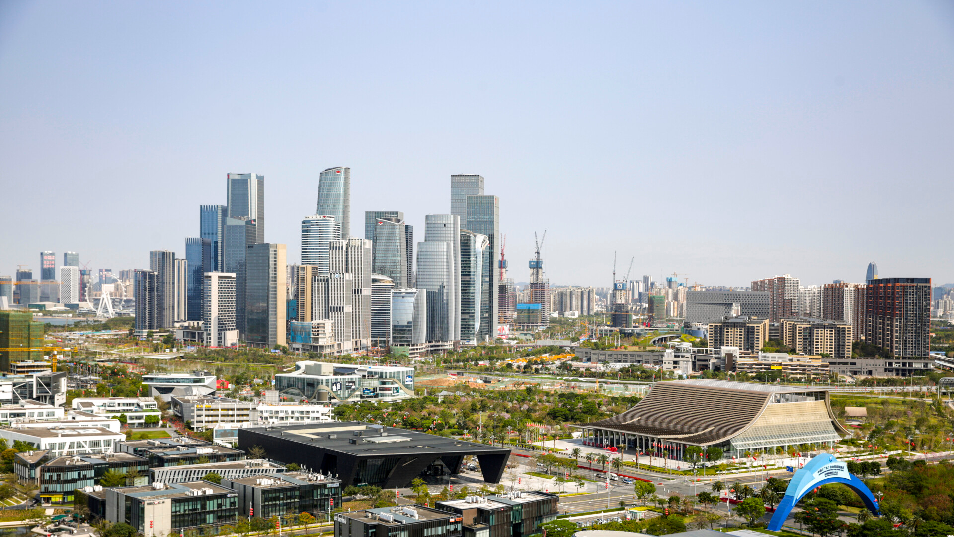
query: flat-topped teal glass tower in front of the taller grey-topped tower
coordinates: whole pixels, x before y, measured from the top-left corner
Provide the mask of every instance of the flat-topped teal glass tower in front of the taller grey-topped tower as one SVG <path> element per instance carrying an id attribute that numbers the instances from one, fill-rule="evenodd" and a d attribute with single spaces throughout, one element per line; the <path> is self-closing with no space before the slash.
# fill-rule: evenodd
<path id="1" fill-rule="evenodd" d="M 483 184 L 483 178 L 481 178 Z M 496 196 L 467 196 L 467 225 L 462 226 L 474 233 L 487 236 L 484 249 L 484 269 L 481 286 L 480 331 L 478 341 L 492 340 L 497 336 L 500 322 L 500 199 Z"/>

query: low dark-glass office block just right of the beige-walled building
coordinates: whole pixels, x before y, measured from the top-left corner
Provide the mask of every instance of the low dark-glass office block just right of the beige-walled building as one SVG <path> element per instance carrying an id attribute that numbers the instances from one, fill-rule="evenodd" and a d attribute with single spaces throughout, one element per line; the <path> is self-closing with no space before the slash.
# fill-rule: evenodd
<path id="1" fill-rule="evenodd" d="M 342 506 L 342 482 L 312 472 L 285 472 L 222 480 L 239 493 L 239 512 L 271 518 L 310 513 L 320 517 Z"/>

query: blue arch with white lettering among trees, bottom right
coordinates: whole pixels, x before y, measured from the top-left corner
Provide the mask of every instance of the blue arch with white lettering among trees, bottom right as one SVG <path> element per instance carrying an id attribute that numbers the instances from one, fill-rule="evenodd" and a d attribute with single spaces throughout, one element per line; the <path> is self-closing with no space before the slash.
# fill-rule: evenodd
<path id="1" fill-rule="evenodd" d="M 878 514 L 878 500 L 871 494 L 868 487 L 861 480 L 848 473 L 848 464 L 835 459 L 833 455 L 819 455 L 815 459 L 805 464 L 803 468 L 796 472 L 792 481 L 788 482 L 788 488 L 785 489 L 785 496 L 778 503 L 778 508 L 768 528 L 772 531 L 781 529 L 785 523 L 785 518 L 792 511 L 792 507 L 798 504 L 801 498 L 808 494 L 810 490 L 828 483 L 842 483 L 848 485 L 855 491 L 864 502 L 864 506 L 871 512 Z"/>

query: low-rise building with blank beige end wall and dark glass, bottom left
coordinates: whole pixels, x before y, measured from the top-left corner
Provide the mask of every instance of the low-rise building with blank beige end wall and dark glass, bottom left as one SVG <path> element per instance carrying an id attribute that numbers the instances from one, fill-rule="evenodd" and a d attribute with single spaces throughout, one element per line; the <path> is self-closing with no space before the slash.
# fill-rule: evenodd
<path id="1" fill-rule="evenodd" d="M 207 481 L 124 486 L 104 492 L 106 520 L 124 522 L 145 537 L 217 528 L 239 520 L 239 494 Z"/>

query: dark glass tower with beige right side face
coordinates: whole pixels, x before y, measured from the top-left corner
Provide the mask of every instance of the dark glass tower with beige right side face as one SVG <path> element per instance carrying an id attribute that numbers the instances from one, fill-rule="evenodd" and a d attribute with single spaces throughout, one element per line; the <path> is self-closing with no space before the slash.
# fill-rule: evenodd
<path id="1" fill-rule="evenodd" d="M 245 341 L 266 349 L 285 345 L 285 245 L 258 243 L 245 256 Z"/>

